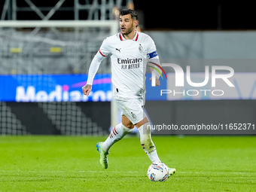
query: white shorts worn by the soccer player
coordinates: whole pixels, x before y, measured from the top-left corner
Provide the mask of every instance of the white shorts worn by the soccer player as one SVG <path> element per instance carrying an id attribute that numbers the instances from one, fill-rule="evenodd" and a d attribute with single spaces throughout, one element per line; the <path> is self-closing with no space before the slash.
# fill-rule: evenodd
<path id="1" fill-rule="evenodd" d="M 114 96 L 114 100 L 122 115 L 124 114 L 133 124 L 144 119 L 143 99 Z"/>

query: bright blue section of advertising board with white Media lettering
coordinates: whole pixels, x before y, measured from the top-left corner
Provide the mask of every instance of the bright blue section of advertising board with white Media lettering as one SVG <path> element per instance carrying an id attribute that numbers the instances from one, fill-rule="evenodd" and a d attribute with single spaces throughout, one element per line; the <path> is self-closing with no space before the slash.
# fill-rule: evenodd
<path id="1" fill-rule="evenodd" d="M 147 74 L 147 100 L 166 100 L 159 90 L 166 87 L 151 87 L 151 74 Z M 93 90 L 84 96 L 82 87 L 87 75 L 0 75 L 0 102 L 105 102 L 111 101 L 111 75 L 96 75 Z M 166 88 L 164 88 L 166 89 Z"/>

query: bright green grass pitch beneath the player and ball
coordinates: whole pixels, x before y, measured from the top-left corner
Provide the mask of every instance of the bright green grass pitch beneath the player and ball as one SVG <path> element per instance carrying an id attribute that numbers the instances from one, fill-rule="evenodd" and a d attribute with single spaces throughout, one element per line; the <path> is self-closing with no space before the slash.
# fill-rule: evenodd
<path id="1" fill-rule="evenodd" d="M 99 164 L 106 137 L 0 137 L 0 191 L 255 191 L 255 136 L 153 136 L 160 159 L 177 173 L 148 179 L 151 161 L 126 136 Z"/>

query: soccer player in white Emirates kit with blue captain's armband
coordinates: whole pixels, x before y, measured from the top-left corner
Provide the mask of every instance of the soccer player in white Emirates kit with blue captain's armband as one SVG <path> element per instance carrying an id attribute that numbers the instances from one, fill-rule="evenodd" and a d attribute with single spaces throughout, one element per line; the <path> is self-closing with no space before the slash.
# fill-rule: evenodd
<path id="1" fill-rule="evenodd" d="M 151 139 L 148 117 L 143 112 L 146 71 L 144 61 L 158 59 L 157 49 L 151 37 L 136 30 L 139 24 L 136 11 L 132 9 L 120 11 L 119 23 L 120 32 L 105 38 L 102 42 L 90 64 L 87 84 L 82 87 L 84 95 L 89 96 L 100 63 L 111 54 L 113 99 L 122 111 L 122 120 L 111 130 L 105 142 L 96 145 L 100 154 L 99 161 L 105 169 L 108 168 L 108 151 L 111 146 L 126 134 L 133 132 L 134 126 L 139 130 L 142 148 L 151 162 L 161 162 Z M 156 86 L 160 86 L 159 76 L 156 75 Z M 152 81 L 152 78 L 150 80 Z M 169 175 L 174 174 L 175 171 L 176 169 L 169 168 Z"/>

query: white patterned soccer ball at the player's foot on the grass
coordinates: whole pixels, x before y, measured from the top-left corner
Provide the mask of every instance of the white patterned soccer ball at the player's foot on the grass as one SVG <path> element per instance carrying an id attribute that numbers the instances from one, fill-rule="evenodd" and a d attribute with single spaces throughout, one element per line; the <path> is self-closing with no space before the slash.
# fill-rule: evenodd
<path id="1" fill-rule="evenodd" d="M 166 181 L 169 178 L 168 166 L 164 163 L 152 163 L 148 167 L 148 178 L 151 181 Z"/>

